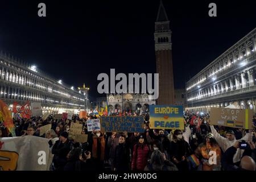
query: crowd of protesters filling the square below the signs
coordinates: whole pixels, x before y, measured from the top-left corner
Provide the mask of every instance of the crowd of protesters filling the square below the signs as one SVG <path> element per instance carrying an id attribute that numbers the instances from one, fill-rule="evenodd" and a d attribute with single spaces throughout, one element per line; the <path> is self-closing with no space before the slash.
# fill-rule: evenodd
<path id="1" fill-rule="evenodd" d="M 144 133 L 88 131 L 86 119 L 78 115 L 65 121 L 53 115 L 44 121 L 14 118 L 14 125 L 16 136 L 49 139 L 52 171 L 255 171 L 255 126 L 251 130 L 213 126 L 209 114 L 187 112 L 184 130 L 172 131 L 150 129 L 150 115 L 143 116 Z M 83 125 L 81 133 L 88 134 L 87 142 L 69 138 L 71 122 Z M 40 136 L 40 127 L 48 124 L 51 129 Z M 11 134 L 1 127 L 0 137 Z"/>

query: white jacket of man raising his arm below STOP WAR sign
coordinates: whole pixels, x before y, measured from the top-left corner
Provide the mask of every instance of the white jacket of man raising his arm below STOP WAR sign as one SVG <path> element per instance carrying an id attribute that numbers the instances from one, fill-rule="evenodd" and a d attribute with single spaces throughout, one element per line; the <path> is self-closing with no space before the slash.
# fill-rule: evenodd
<path id="1" fill-rule="evenodd" d="M 217 131 L 214 129 L 214 126 L 210 126 L 210 130 L 212 130 L 212 134 L 214 136 L 214 139 L 218 142 L 218 145 L 221 147 L 223 152 L 225 152 L 229 147 L 233 146 L 236 143 L 236 138 L 233 141 L 229 141 L 228 139 L 221 137 L 220 134 L 217 133 Z M 250 140 L 251 137 L 253 137 L 252 133 L 246 133 L 245 137 L 243 137 L 241 140 Z M 244 150 L 240 150 L 240 148 L 237 149 L 236 154 L 234 155 L 233 162 L 237 163 L 240 161 L 240 158 L 243 154 Z M 241 155 L 241 156 L 240 156 Z"/>

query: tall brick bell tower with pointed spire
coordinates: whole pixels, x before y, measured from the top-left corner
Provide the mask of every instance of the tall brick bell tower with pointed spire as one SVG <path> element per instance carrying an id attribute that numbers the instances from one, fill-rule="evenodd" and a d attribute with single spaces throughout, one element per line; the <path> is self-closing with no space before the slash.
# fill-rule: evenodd
<path id="1" fill-rule="evenodd" d="M 158 105 L 175 104 L 170 21 L 160 1 L 155 22 L 156 73 L 159 73 Z"/>

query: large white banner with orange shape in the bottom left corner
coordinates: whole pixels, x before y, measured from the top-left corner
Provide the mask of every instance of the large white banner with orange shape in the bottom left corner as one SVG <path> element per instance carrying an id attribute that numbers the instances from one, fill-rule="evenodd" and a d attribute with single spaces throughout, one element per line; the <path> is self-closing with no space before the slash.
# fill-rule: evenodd
<path id="1" fill-rule="evenodd" d="M 53 158 L 48 141 L 28 135 L 0 138 L 0 171 L 48 171 Z"/>

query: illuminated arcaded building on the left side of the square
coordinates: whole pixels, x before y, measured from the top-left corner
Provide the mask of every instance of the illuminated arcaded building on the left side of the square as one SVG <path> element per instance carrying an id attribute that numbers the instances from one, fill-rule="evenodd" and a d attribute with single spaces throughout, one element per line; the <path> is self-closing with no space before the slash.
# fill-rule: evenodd
<path id="1" fill-rule="evenodd" d="M 35 66 L 24 64 L 0 53 L 0 99 L 9 108 L 13 102 L 41 102 L 43 113 L 77 113 L 85 108 L 84 93 L 61 80 L 49 77 Z"/>

